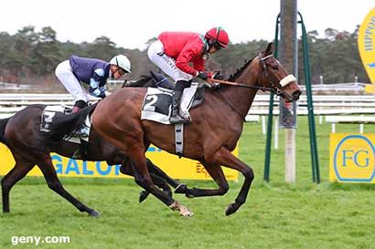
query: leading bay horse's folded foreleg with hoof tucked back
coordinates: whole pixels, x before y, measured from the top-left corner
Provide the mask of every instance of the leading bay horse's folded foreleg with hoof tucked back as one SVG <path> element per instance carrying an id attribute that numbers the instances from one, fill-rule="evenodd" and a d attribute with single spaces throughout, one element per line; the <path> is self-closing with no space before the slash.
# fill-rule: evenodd
<path id="1" fill-rule="evenodd" d="M 213 196 L 213 195 L 224 195 L 229 190 L 229 185 L 225 179 L 224 172 L 222 171 L 219 164 L 211 164 L 207 161 L 200 161 L 205 167 L 206 171 L 212 179 L 218 183 L 219 189 L 209 190 L 209 189 L 198 189 L 198 188 L 186 188 L 185 195 L 189 198 L 191 197 L 202 197 L 202 196 Z"/>

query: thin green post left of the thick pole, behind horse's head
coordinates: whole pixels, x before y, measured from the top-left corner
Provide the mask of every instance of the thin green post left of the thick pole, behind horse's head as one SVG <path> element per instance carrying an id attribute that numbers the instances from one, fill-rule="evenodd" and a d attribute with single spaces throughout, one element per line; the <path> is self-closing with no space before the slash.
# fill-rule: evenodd
<path id="1" fill-rule="evenodd" d="M 277 47 L 278 47 L 278 38 L 279 38 L 279 23 L 280 23 L 280 14 L 276 18 L 276 31 L 274 34 L 273 42 L 273 56 L 277 57 Z M 266 143 L 265 143 L 265 160 L 264 160 L 264 174 L 263 181 L 270 182 L 270 167 L 271 167 L 271 140 L 273 137 L 273 98 L 274 94 L 270 94 L 270 104 L 268 106 L 268 119 L 267 119 L 267 134 L 266 134 Z"/>

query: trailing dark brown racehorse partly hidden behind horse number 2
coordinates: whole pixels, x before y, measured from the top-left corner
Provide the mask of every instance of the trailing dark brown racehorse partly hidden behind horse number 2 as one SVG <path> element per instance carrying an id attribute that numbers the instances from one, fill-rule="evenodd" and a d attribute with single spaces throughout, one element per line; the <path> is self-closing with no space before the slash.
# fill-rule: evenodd
<path id="1" fill-rule="evenodd" d="M 143 87 L 148 84 L 150 87 L 151 78 L 141 78 L 134 82 L 128 82 L 136 87 Z M 129 85 L 128 84 L 128 85 Z M 125 86 L 126 87 L 126 86 Z M 11 188 L 27 175 L 35 165 L 43 172 L 48 183 L 48 187 L 54 192 L 59 193 L 68 202 L 72 203 L 80 212 L 87 212 L 91 216 L 98 216 L 95 210 L 92 210 L 69 192 L 67 192 L 61 182 L 59 182 L 57 173 L 52 164 L 49 152 L 57 152 L 62 156 L 71 158 L 80 145 L 70 141 L 59 140 L 53 142 L 53 146 L 47 147 L 48 138 L 40 131 L 40 122 L 45 105 L 30 105 L 26 109 L 22 109 L 8 119 L 0 119 L 0 141 L 12 152 L 16 161 L 14 168 L 9 171 L 2 179 L 2 196 L 3 196 L 3 212 L 9 212 L 9 192 Z M 89 111 L 88 109 L 83 112 Z M 72 114 L 67 116 L 73 116 Z M 81 120 L 80 120 L 81 121 Z M 111 143 L 103 140 L 94 129 L 90 132 L 88 153 L 83 160 L 86 161 L 107 161 L 109 165 L 124 164 L 126 161 L 125 154 L 114 147 Z M 169 178 L 164 171 L 159 169 L 152 163 L 147 161 L 152 178 L 155 184 L 163 189 L 167 195 L 172 195 L 167 183 L 177 188 L 178 182 Z M 130 167 L 122 167 L 123 173 L 134 175 Z M 167 183 L 166 183 L 167 182 Z M 147 197 L 148 192 L 141 192 L 139 201 L 142 202 Z"/>

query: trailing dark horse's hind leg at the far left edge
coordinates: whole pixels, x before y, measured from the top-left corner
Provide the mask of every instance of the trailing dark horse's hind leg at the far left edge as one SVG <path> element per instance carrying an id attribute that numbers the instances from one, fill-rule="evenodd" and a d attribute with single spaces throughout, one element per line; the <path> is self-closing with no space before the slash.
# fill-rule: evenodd
<path id="1" fill-rule="evenodd" d="M 28 171 L 34 168 L 34 163 L 26 161 L 16 161 L 15 167 L 9 171 L 1 180 L 1 189 L 3 195 L 3 212 L 9 212 L 9 192 L 16 182 L 27 175 Z"/>

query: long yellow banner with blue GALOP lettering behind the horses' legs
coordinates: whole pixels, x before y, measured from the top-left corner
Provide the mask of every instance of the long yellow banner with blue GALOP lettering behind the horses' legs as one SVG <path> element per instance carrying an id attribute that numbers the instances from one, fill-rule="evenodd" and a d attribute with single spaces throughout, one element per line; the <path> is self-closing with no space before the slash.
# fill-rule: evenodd
<path id="1" fill-rule="evenodd" d="M 233 151 L 238 155 L 238 148 Z M 120 165 L 108 166 L 104 161 L 79 161 L 58 154 L 52 153 L 52 162 L 59 176 L 69 177 L 107 177 L 107 178 L 124 178 L 128 177 L 120 172 Z M 179 159 L 176 155 L 167 153 L 158 148 L 151 146 L 146 157 L 153 161 L 158 167 L 175 179 L 200 179 L 209 180 L 209 174 L 205 171 L 203 165 L 198 161 L 188 159 Z M 15 161 L 8 148 L 0 143 L 0 175 L 5 175 L 15 165 Z M 238 171 L 223 168 L 224 174 L 229 181 L 238 179 Z M 37 167 L 27 175 L 43 175 Z"/>

